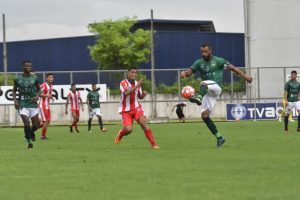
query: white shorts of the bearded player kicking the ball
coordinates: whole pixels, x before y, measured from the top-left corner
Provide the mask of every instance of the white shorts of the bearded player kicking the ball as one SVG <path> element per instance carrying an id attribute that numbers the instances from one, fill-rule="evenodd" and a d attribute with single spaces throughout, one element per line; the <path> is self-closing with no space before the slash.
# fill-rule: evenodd
<path id="1" fill-rule="evenodd" d="M 202 99 L 202 110 L 201 112 L 204 112 L 206 110 L 209 110 L 209 112 L 212 111 L 214 106 L 216 105 L 217 98 L 222 92 L 221 87 L 214 81 L 203 81 L 207 84 L 207 94 L 204 95 Z"/>

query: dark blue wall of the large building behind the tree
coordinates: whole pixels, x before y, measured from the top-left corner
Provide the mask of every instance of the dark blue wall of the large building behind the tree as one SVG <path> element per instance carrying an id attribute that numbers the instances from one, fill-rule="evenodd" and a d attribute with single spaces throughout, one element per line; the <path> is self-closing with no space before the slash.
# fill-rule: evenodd
<path id="1" fill-rule="evenodd" d="M 155 37 L 156 68 L 190 66 L 200 56 L 199 47 L 204 42 L 212 44 L 215 55 L 244 66 L 244 34 L 163 31 Z M 96 64 L 87 49 L 93 44 L 93 36 L 8 42 L 8 70 L 21 71 L 24 59 L 31 60 L 36 71 L 94 70 Z M 1 43 L 1 58 L 2 50 Z M 3 71 L 2 62 L 0 66 Z"/>

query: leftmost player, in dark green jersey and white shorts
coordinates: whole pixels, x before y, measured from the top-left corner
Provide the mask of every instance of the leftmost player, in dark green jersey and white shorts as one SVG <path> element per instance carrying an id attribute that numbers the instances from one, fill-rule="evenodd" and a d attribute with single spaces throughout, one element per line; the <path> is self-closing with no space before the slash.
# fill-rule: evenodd
<path id="1" fill-rule="evenodd" d="M 40 85 L 36 75 L 31 74 L 32 63 L 29 60 L 23 61 L 23 74 L 14 80 L 13 99 L 16 110 L 22 118 L 24 124 L 25 139 L 28 148 L 33 148 L 32 141 L 35 141 L 34 132 L 39 128 L 39 109 L 38 98 L 40 94 Z M 19 97 L 17 99 L 17 91 Z M 30 119 L 32 127 L 30 127 Z"/>

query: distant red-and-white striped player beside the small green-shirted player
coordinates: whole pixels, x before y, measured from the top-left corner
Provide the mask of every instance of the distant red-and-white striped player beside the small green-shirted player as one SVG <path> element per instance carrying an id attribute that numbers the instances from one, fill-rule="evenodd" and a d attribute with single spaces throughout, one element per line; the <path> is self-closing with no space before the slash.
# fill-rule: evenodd
<path id="1" fill-rule="evenodd" d="M 68 99 L 66 102 L 66 115 L 68 114 L 68 104 L 71 103 L 71 113 L 73 117 L 73 122 L 70 125 L 70 132 L 73 133 L 73 127 L 77 133 L 79 133 L 77 123 L 79 122 L 80 112 L 79 112 L 79 102 L 81 104 L 81 109 L 84 111 L 82 99 L 80 97 L 80 92 L 76 90 L 76 85 L 74 83 L 71 84 L 71 91 L 68 94 Z"/>

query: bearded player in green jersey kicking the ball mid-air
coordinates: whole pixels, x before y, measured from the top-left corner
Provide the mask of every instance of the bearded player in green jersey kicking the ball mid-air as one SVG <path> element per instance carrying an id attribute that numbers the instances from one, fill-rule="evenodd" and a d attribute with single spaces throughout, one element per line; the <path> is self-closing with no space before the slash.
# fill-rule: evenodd
<path id="1" fill-rule="evenodd" d="M 220 85 L 223 81 L 223 70 L 231 70 L 240 77 L 244 78 L 249 83 L 252 82 L 252 77 L 243 73 L 239 68 L 233 66 L 228 61 L 221 57 L 212 54 L 212 47 L 205 43 L 200 48 L 201 59 L 197 59 L 194 64 L 186 71 L 181 72 L 181 77 L 189 77 L 197 71 L 200 72 L 202 82 L 200 91 L 197 96 L 191 97 L 190 102 L 202 105 L 201 118 L 205 122 L 208 129 L 217 138 L 217 147 L 221 147 L 225 139 L 217 130 L 215 123 L 210 118 L 210 113 L 222 89 Z"/>

